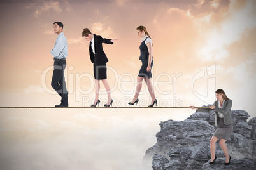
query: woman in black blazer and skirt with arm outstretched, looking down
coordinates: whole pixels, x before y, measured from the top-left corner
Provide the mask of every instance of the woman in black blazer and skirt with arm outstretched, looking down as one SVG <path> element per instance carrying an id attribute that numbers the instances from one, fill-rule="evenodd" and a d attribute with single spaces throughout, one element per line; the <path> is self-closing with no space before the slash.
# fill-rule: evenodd
<path id="1" fill-rule="evenodd" d="M 85 37 L 87 41 L 90 41 L 89 53 L 90 60 L 94 63 L 94 79 L 96 84 L 96 95 L 94 99 L 94 104 L 91 107 L 96 107 L 99 105 L 99 82 L 100 80 L 103 82 L 103 85 L 108 93 L 108 102 L 104 105 L 105 107 L 110 107 L 112 105 L 113 100 L 111 98 L 110 86 L 108 85 L 107 76 L 106 76 L 106 62 L 108 62 L 108 58 L 103 51 L 103 43 L 105 44 L 113 44 L 117 39 L 104 39 L 101 36 L 97 36 L 96 34 L 92 34 L 89 29 L 83 29 L 82 36 Z"/>

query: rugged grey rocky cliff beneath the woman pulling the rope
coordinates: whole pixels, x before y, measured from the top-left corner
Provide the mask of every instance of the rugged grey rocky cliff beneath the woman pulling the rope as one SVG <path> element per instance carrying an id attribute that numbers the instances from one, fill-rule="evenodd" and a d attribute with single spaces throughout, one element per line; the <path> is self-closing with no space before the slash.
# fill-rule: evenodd
<path id="1" fill-rule="evenodd" d="M 169 169 L 256 169 L 256 117 L 243 110 L 231 111 L 234 131 L 226 142 L 231 165 L 224 166 L 225 155 L 216 145 L 217 160 L 210 165 L 210 139 L 215 131 L 214 111 L 196 112 L 185 121 L 160 122 L 157 143 L 146 150 L 143 162 L 154 170 Z M 153 161 L 152 161 L 153 159 Z"/>

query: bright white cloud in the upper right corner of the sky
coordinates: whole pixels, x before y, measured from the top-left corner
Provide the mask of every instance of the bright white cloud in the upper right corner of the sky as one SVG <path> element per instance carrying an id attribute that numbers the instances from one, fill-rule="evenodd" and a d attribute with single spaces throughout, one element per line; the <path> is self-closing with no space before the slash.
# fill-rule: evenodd
<path id="1" fill-rule="evenodd" d="M 256 27 L 256 22 L 252 22 L 254 16 L 250 15 L 253 10 L 253 1 L 246 1 L 244 6 L 239 7 L 236 1 L 231 1 L 227 13 L 211 14 L 205 18 L 206 20 L 201 20 L 207 21 L 198 25 L 201 29 L 201 36 L 205 37 L 206 42 L 199 48 L 199 55 L 203 56 L 204 60 L 224 62 L 230 56 L 227 46 L 239 41 L 247 29 Z M 215 22 L 214 18 L 220 19 Z"/>

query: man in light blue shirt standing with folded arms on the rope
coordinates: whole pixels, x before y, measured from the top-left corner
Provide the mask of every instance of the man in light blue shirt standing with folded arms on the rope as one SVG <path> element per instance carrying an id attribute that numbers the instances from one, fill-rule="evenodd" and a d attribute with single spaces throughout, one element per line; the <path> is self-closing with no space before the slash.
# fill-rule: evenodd
<path id="1" fill-rule="evenodd" d="M 55 105 L 55 107 L 68 107 L 68 91 L 64 77 L 66 57 L 68 56 L 68 42 L 64 36 L 64 33 L 62 32 L 63 23 L 54 22 L 53 28 L 54 32 L 58 34 L 58 37 L 56 39 L 54 48 L 50 51 L 54 57 L 54 70 L 51 85 L 62 98 L 60 105 Z"/>

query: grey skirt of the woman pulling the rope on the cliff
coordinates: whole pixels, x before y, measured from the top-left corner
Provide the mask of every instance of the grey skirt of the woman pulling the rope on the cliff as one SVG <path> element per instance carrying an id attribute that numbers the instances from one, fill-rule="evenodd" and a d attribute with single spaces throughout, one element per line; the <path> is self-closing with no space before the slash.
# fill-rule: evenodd
<path id="1" fill-rule="evenodd" d="M 229 137 L 231 136 L 231 133 L 233 131 L 233 125 L 225 125 L 224 124 L 224 118 L 217 118 L 218 122 L 218 128 L 216 129 L 215 133 L 213 136 L 219 138 L 219 139 L 224 139 L 224 140 L 229 140 Z"/>

